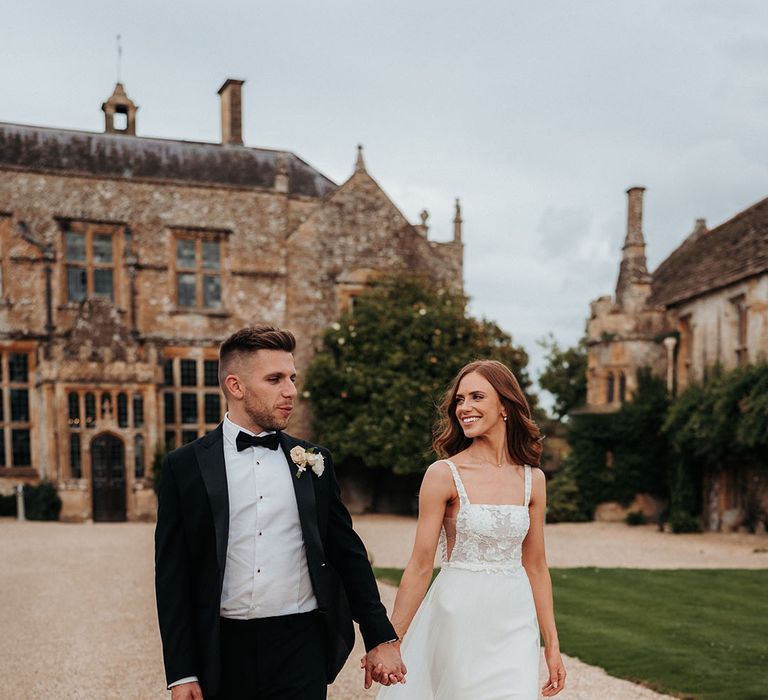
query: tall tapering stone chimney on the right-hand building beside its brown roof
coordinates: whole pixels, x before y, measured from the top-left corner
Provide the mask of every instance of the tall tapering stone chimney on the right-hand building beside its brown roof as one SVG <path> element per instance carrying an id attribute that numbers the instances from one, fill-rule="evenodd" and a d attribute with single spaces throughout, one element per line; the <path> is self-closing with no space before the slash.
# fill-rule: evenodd
<path id="1" fill-rule="evenodd" d="M 627 235 L 616 283 L 616 303 L 626 310 L 638 310 L 645 306 L 651 294 L 651 276 L 648 274 L 643 236 L 644 192 L 645 187 L 630 187 L 627 190 Z"/>

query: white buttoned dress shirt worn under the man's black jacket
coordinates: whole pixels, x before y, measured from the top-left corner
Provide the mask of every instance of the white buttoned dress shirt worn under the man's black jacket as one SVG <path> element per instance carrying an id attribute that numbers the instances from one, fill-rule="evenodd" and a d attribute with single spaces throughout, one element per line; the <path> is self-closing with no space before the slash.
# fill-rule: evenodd
<path id="1" fill-rule="evenodd" d="M 299 508 L 282 449 L 248 447 L 237 451 L 242 430 L 224 416 L 224 465 L 229 492 L 229 539 L 220 614 L 252 620 L 303 613 L 317 608 L 301 534 Z M 267 435 L 268 433 L 259 433 Z M 304 475 L 310 478 L 311 472 Z M 189 676 L 168 687 L 197 681 Z"/>

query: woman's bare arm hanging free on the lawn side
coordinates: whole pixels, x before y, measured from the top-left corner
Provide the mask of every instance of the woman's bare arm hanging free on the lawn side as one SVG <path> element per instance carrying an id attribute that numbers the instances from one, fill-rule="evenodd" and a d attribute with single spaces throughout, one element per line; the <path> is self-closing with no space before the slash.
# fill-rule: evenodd
<path id="1" fill-rule="evenodd" d="M 533 602 L 539 629 L 544 637 L 544 656 L 549 669 L 549 681 L 543 688 L 544 697 L 556 695 L 565 683 L 565 667 L 560 657 L 560 641 L 555 626 L 555 606 L 552 601 L 552 579 L 544 551 L 544 513 L 547 509 L 547 480 L 544 472 L 533 469 L 531 490 L 531 525 L 523 541 L 523 566 L 531 582 Z"/>

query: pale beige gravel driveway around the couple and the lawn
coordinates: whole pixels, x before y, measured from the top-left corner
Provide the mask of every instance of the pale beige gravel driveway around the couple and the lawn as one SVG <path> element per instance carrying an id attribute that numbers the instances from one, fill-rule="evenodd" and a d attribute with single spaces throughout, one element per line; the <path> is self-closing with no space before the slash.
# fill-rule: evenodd
<path id="1" fill-rule="evenodd" d="M 357 518 L 376 564 L 403 566 L 415 522 Z M 153 526 L 17 523 L 0 519 L 0 698 L 152 700 L 164 690 L 152 586 Z M 768 538 L 662 535 L 652 528 L 586 523 L 547 528 L 552 566 L 768 568 Z M 755 551 L 757 550 L 757 551 Z M 762 551 L 761 551 L 762 550 Z M 391 607 L 395 589 L 382 586 Z M 331 700 L 361 689 L 357 649 Z M 563 700 L 661 698 L 566 659 Z"/>

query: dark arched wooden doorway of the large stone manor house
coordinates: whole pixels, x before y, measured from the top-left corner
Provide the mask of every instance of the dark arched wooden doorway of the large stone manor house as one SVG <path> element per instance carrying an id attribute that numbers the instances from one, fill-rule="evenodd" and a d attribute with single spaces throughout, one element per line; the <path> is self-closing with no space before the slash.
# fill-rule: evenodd
<path id="1" fill-rule="evenodd" d="M 103 433 L 91 442 L 93 519 L 99 522 L 125 520 L 125 446 Z"/>

